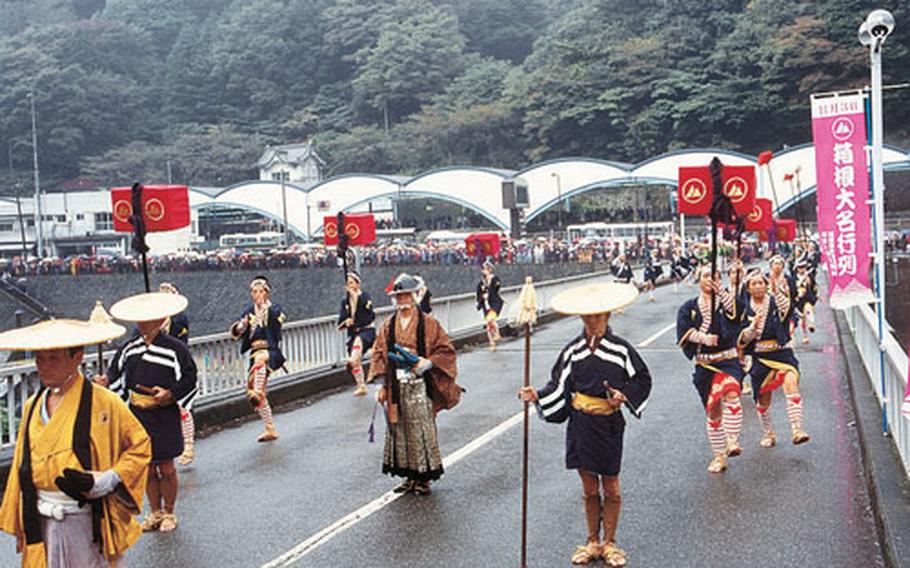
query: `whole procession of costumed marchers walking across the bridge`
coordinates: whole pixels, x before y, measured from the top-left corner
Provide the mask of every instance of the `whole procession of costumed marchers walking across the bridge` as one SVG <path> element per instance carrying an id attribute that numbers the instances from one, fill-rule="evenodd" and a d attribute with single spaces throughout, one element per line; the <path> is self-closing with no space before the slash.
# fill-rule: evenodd
<path id="1" fill-rule="evenodd" d="M 796 328 L 806 334 L 815 325 L 817 259 L 803 256 L 792 264 L 796 274 L 787 273 L 779 256 L 771 259 L 768 273 L 746 272 L 734 262 L 726 286 L 709 267 L 699 268 L 699 293 L 678 310 L 677 340 L 694 362 L 693 385 L 705 409 L 710 473 L 725 471 L 729 458 L 744 451 L 739 440 L 744 382 L 752 386 L 761 447 L 777 443 L 769 410 L 778 389 L 784 393 L 792 443 L 810 440 L 792 348 Z M 683 264 L 671 266 L 674 279 L 687 276 Z M 585 543 L 571 556 L 575 564 L 626 563 L 616 542 L 626 425 L 622 409 L 640 418 L 651 391 L 644 359 L 609 325 L 611 314 L 639 295 L 623 259 L 615 274 L 619 282 L 576 287 L 553 299 L 556 312 L 581 317 L 582 332 L 560 352 L 545 386 L 518 393 L 547 422 L 567 422 L 566 468 L 578 471 L 587 526 Z M 652 265 L 646 276 L 649 299 L 657 276 Z M 494 266 L 485 263 L 476 299 L 491 350 L 500 339 L 500 288 Z M 367 394 L 368 383 L 381 382 L 377 403 L 387 425 L 381 471 L 402 478 L 395 491 L 429 495 L 431 483 L 444 474 L 436 417 L 455 407 L 464 389 L 456 382 L 452 341 L 430 313 L 426 282 L 402 273 L 387 294 L 395 311 L 377 329 L 373 300 L 362 290 L 360 274 L 348 272 L 338 326 L 348 337 L 354 394 Z M 231 337 L 249 356 L 246 396 L 263 422 L 260 442 L 278 438 L 267 387 L 285 363 L 286 316 L 271 295 L 268 278 L 255 277 L 252 302 L 230 326 Z M 186 298 L 170 283 L 157 293 L 115 303 L 112 316 L 135 324 L 136 330 L 107 373 L 93 381 L 80 371 L 85 347 L 126 332 L 103 309 L 96 308 L 89 321 L 52 320 L 0 334 L 0 349 L 36 353 L 42 383 L 24 405 L 14 473 L 0 508 L 0 530 L 16 536 L 23 566 L 115 565 L 140 532 L 177 529 L 174 462 L 194 458 L 191 412 L 199 392 L 187 346 L 186 308 Z M 52 421 L 55 416 L 62 418 Z M 45 465 L 32 467 L 39 462 Z M 143 494 L 149 512 L 140 523 Z"/>

